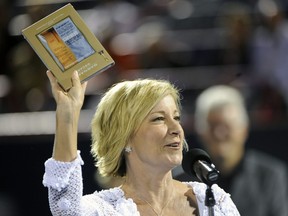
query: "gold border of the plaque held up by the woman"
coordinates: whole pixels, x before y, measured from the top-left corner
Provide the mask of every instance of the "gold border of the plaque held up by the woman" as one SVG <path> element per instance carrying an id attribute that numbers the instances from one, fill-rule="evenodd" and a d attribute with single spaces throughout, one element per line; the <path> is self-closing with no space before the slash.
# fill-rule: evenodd
<path id="1" fill-rule="evenodd" d="M 40 36 L 43 36 L 45 32 L 51 31 L 52 29 L 54 30 L 54 26 L 69 18 L 72 21 L 71 23 L 74 23 L 76 29 L 80 34 L 82 33 L 86 39 L 86 42 L 95 52 L 91 52 L 88 57 L 85 57 L 79 62 L 70 64 L 70 66 L 67 68 L 64 68 L 61 66 L 61 64 L 59 64 L 59 61 L 56 61 L 55 56 L 51 55 L 51 50 L 49 51 L 47 46 L 45 47 L 43 42 L 41 42 Z M 66 91 L 72 87 L 71 75 L 75 70 L 78 71 L 81 82 L 84 82 L 85 80 L 90 79 L 92 76 L 103 72 L 115 64 L 109 53 L 105 50 L 94 33 L 91 32 L 86 23 L 70 3 L 32 24 L 31 26 L 23 29 L 22 35 L 28 41 L 30 46 L 34 49 L 46 67 L 55 75 L 61 87 Z M 63 43 L 61 44 L 63 45 Z M 61 49 L 61 55 L 63 58 L 68 58 L 67 52 L 64 53 L 63 49 Z"/>

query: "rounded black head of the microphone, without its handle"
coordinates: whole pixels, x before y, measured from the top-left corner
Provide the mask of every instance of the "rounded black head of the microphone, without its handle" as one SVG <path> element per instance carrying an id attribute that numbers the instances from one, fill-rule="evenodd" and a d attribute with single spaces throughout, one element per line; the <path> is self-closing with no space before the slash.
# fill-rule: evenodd
<path id="1" fill-rule="evenodd" d="M 182 168 L 190 176 L 196 176 L 193 165 L 196 161 L 202 160 L 211 164 L 210 156 L 202 149 L 194 148 L 183 154 Z"/>

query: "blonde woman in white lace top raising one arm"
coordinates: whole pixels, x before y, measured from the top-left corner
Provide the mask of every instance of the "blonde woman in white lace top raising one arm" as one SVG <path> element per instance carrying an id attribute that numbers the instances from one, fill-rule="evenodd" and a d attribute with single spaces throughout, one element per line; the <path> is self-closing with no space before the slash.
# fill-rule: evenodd
<path id="1" fill-rule="evenodd" d="M 73 87 L 64 92 L 49 71 L 48 77 L 57 123 L 43 184 L 53 215 L 208 215 L 206 186 L 172 178 L 187 148 L 175 87 L 145 79 L 120 82 L 106 92 L 92 120 L 91 151 L 101 175 L 123 176 L 124 183 L 83 196 L 77 123 L 87 83 L 81 85 L 75 72 Z M 228 194 L 217 185 L 213 191 L 215 215 L 239 215 Z"/>

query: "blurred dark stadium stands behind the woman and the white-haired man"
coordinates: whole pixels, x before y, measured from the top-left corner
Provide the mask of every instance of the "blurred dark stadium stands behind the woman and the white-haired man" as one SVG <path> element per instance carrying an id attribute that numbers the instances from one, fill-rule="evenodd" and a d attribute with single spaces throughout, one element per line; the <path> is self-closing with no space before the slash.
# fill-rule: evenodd
<path id="1" fill-rule="evenodd" d="M 46 68 L 21 30 L 72 3 L 116 65 L 92 78 L 79 125 L 84 193 L 100 188 L 89 153 L 90 119 L 101 93 L 123 79 L 169 79 L 182 89 L 183 126 L 194 135 L 195 97 L 213 84 L 245 95 L 247 146 L 288 163 L 286 0 L 1 0 L 0 215 L 51 215 L 42 186 L 51 156 L 55 104 Z"/>

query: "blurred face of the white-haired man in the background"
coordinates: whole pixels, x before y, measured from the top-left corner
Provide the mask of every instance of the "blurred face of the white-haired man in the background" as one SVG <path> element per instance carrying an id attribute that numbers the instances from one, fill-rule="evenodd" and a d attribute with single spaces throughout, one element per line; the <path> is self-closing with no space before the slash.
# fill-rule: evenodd
<path id="1" fill-rule="evenodd" d="M 225 105 L 210 111 L 207 130 L 201 135 L 203 144 L 219 169 L 237 165 L 244 152 L 247 127 L 237 107 Z"/>

